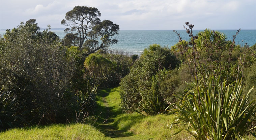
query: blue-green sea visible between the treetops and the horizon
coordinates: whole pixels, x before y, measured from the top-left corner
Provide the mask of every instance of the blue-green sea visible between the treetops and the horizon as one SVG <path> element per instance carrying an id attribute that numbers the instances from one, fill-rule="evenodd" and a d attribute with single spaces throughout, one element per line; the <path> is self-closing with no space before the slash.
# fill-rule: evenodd
<path id="1" fill-rule="evenodd" d="M 52 30 L 60 38 L 65 36 L 64 31 Z M 176 30 L 180 33 L 182 40 L 188 40 L 189 36 L 186 33 L 186 30 Z M 203 31 L 203 30 L 194 30 L 194 34 Z M 237 30 L 218 30 L 226 34 L 228 40 L 233 39 L 233 35 Z M 3 35 L 5 31 L 0 31 L 0 34 Z M 140 54 L 144 48 L 148 47 L 150 44 L 160 44 L 162 46 L 175 45 L 178 42 L 178 37 L 173 30 L 120 30 L 118 32 L 116 39 L 118 40 L 117 44 L 114 44 L 110 49 L 119 49 L 123 51 L 129 51 L 132 54 Z M 256 43 L 256 30 L 241 30 L 237 35 L 235 42 L 239 45 L 244 45 L 241 41 L 248 43 L 252 46 Z"/>

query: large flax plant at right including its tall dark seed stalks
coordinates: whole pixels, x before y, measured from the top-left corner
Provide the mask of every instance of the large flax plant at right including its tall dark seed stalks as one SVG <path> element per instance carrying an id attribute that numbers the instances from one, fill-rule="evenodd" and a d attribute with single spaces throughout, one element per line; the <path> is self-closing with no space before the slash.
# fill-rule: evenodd
<path id="1" fill-rule="evenodd" d="M 252 130 L 256 128 L 256 126 L 253 127 L 256 121 L 255 100 L 250 103 L 248 100 L 253 87 L 246 95 L 243 95 L 243 76 L 240 80 L 237 77 L 234 82 L 222 77 L 222 51 L 229 50 L 227 71 L 229 73 L 231 52 L 235 46 L 234 39 L 240 29 L 233 36 L 233 42 L 228 42 L 226 36 L 218 31 L 205 30 L 204 35 L 200 33 L 194 36 L 192 31 L 194 25 L 189 22 L 186 22 L 186 25 L 188 28 L 183 27 L 191 37 L 188 43 L 189 46 L 186 41 L 182 40 L 177 31 L 174 30 L 174 32 L 179 37 L 180 45 L 178 47 L 189 65 L 190 71 L 192 71 L 192 68 L 195 69 L 195 74 L 193 75 L 192 72 L 191 74 L 195 79 L 196 86 L 182 96 L 175 95 L 179 101 L 166 108 L 170 111 L 169 114 L 177 114 L 177 121 L 184 120 L 188 122 L 186 129 L 179 130 L 173 136 L 186 130 L 191 134 L 191 137 L 193 136 L 197 140 L 240 140 L 247 133 L 251 133 L 256 138 L 256 135 L 252 133 Z M 198 53 L 200 50 L 209 51 L 207 53 L 210 69 L 207 70 L 207 73 L 202 67 L 202 62 L 200 62 L 200 54 Z M 214 51 L 219 56 L 216 61 L 219 66 L 215 69 L 212 67 L 210 60 L 210 52 Z M 216 74 L 215 71 L 218 70 L 219 73 Z M 227 74 L 226 79 L 228 78 Z"/>

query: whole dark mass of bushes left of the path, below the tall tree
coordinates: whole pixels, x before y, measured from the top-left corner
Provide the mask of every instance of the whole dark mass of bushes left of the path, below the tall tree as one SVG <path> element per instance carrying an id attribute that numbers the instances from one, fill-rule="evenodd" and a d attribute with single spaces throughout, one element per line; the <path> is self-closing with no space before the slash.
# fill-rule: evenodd
<path id="1" fill-rule="evenodd" d="M 1 130 L 24 125 L 18 118 L 29 124 L 59 123 L 75 120 L 76 111 L 92 110 L 96 87 L 83 78 L 83 59 L 77 47 L 62 46 L 49 29 L 40 32 L 35 20 L 7 30 L 0 38 L 1 105 L 11 105 L 17 119 L 10 117 L 7 126 L 7 114 L 1 113 Z"/>

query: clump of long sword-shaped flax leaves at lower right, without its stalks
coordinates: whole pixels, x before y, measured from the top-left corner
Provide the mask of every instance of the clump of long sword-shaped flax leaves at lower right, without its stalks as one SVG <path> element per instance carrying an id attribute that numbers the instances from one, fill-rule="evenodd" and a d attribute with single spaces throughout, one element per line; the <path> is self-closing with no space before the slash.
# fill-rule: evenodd
<path id="1" fill-rule="evenodd" d="M 207 79 L 181 98 L 177 109 L 170 113 L 179 112 L 181 117 L 178 118 L 188 121 L 188 128 L 192 127 L 195 132 L 186 131 L 198 140 L 241 139 L 250 132 L 249 126 L 255 121 L 255 105 L 249 109 L 255 100 L 247 105 L 252 88 L 242 97 L 241 80 L 227 85 L 214 76 Z"/>

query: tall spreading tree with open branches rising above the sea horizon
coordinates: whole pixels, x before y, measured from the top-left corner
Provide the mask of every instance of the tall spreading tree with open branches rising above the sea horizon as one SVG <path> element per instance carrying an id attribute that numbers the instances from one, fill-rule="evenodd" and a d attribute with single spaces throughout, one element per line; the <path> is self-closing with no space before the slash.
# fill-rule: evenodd
<path id="1" fill-rule="evenodd" d="M 117 43 L 114 36 L 118 34 L 119 25 L 109 20 L 101 22 L 98 16 L 101 16 L 101 13 L 97 8 L 75 6 L 66 13 L 66 20 L 61 21 L 62 25 L 69 27 L 64 30 L 65 32 L 78 34 L 80 50 L 84 46 L 90 48 L 85 56 Z"/>

